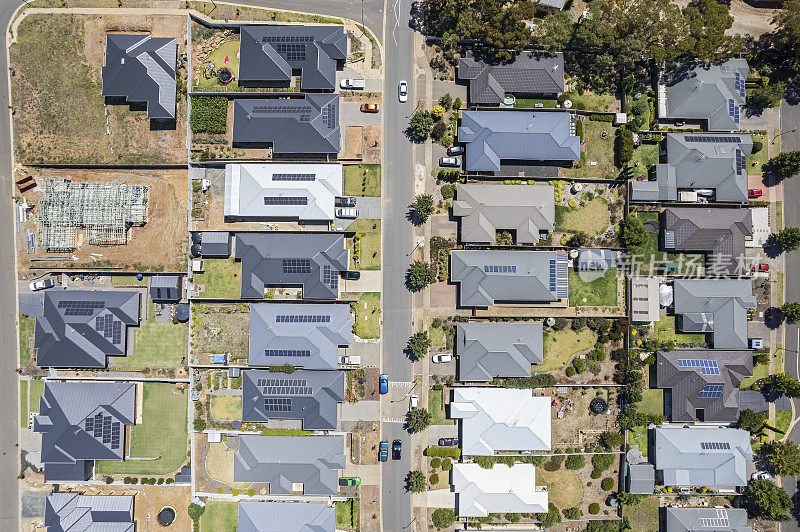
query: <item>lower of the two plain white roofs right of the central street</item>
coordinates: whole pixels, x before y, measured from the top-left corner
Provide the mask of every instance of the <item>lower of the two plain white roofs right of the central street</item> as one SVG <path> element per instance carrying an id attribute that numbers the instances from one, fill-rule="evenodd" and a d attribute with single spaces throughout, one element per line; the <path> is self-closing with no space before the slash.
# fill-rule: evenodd
<path id="1" fill-rule="evenodd" d="M 460 517 L 486 517 L 490 513 L 545 513 L 547 491 L 536 489 L 533 464 L 453 464 L 453 487 L 458 494 Z"/>

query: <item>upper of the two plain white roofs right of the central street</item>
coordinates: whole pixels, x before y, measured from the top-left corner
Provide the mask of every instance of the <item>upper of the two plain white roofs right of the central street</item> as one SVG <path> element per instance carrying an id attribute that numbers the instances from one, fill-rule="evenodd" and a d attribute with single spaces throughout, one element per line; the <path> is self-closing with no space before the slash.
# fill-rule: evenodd
<path id="1" fill-rule="evenodd" d="M 458 388 L 450 417 L 461 419 L 465 455 L 550 450 L 550 398 L 530 390 Z"/>

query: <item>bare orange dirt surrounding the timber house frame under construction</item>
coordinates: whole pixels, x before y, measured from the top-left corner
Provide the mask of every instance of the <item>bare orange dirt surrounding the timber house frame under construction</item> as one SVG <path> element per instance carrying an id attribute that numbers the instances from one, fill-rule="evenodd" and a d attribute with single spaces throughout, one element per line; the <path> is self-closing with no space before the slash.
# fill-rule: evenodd
<path id="1" fill-rule="evenodd" d="M 17 233 L 17 254 L 20 277 L 27 279 L 33 268 L 47 269 L 118 269 L 126 271 L 180 271 L 185 268 L 187 173 L 186 170 L 85 170 L 37 169 L 17 170 L 15 178 L 33 176 L 35 188 L 20 194 L 33 209 Z M 128 183 L 150 187 L 148 222 L 143 227 L 129 229 L 128 243 L 116 246 L 82 245 L 71 253 L 47 253 L 36 247 L 29 252 L 26 231 L 35 233 L 38 243 L 41 227 L 37 224 L 36 205 L 44 197 L 44 181 L 48 178 L 69 179 L 87 183 Z M 100 254 L 93 261 L 91 253 Z M 78 260 L 32 261 L 34 258 L 72 257 Z"/>

